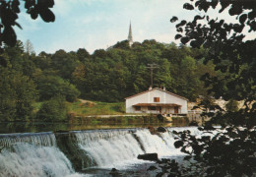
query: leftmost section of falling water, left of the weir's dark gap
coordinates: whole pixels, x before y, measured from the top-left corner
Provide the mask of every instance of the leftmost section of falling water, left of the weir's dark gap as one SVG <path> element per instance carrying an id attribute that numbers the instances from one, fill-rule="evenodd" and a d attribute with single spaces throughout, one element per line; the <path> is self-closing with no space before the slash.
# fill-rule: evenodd
<path id="1" fill-rule="evenodd" d="M 0 177 L 76 175 L 53 133 L 0 135 Z"/>

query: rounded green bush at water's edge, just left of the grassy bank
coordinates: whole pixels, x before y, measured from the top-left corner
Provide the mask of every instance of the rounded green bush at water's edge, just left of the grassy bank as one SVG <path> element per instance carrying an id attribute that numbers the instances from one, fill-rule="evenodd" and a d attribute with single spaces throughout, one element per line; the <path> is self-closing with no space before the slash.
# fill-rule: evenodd
<path id="1" fill-rule="evenodd" d="M 68 107 L 63 96 L 55 96 L 42 103 L 36 118 L 44 121 L 67 121 Z"/>

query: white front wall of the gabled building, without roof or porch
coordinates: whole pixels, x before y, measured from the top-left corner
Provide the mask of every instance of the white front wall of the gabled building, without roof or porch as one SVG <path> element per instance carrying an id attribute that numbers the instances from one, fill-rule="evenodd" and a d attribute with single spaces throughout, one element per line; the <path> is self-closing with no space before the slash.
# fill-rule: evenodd
<path id="1" fill-rule="evenodd" d="M 160 102 L 154 102 L 154 97 L 160 97 Z M 126 99 L 126 112 L 127 113 L 158 113 L 158 111 L 149 111 L 148 107 L 141 107 L 141 111 L 136 111 L 133 105 L 138 103 L 174 103 L 181 105 L 179 113 L 187 114 L 187 100 L 177 97 L 175 95 L 169 94 L 165 91 L 159 89 L 152 89 L 151 91 L 139 94 Z M 174 113 L 174 108 L 165 110 L 161 109 L 161 112 Z"/>

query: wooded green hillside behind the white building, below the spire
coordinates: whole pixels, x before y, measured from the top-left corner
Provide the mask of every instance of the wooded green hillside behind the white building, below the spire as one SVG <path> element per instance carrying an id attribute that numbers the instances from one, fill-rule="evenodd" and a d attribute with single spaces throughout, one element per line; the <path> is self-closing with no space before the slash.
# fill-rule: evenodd
<path id="1" fill-rule="evenodd" d="M 1 54 L 0 117 L 5 120 L 29 119 L 33 101 L 56 96 L 69 102 L 78 97 L 124 101 L 127 96 L 149 89 L 151 73 L 147 67 L 152 63 L 159 65 L 154 70 L 154 87 L 164 86 L 190 100 L 206 92 L 200 81 L 203 74 L 220 74 L 214 71 L 213 64 L 202 63 L 203 48 L 156 40 L 135 42 L 131 47 L 124 40 L 92 55 L 86 49 L 35 55 L 28 46 L 32 45 L 18 41 L 15 47 L 6 46 Z"/>

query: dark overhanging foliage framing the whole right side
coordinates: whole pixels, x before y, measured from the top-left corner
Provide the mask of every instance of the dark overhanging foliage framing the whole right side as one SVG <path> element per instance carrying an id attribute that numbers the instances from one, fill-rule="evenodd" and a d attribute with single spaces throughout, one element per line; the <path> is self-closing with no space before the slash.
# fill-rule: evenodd
<path id="1" fill-rule="evenodd" d="M 203 45 L 208 51 L 204 63 L 212 61 L 215 70 L 223 73 L 221 77 L 210 76 L 209 73 L 202 77 L 205 86 L 209 87 L 209 94 L 231 100 L 229 108 L 233 100 L 244 100 L 244 106 L 224 112 L 220 106 L 205 101 L 201 106 L 206 111 L 210 107 L 215 110 L 206 113 L 211 121 L 204 128 L 199 128 L 205 134 L 196 137 L 189 131 L 173 132 L 178 135 L 174 146 L 189 154 L 184 160 L 188 160 L 190 165 L 179 169 L 182 176 L 253 176 L 256 172 L 256 39 L 245 40 L 243 33 L 246 28 L 248 32 L 256 30 L 255 2 L 196 0 L 191 4 L 185 3 L 183 8 L 196 8 L 207 13 L 219 4 L 220 13 L 228 9 L 229 15 L 235 16 L 238 22 L 227 24 L 223 19 L 211 19 L 207 14 L 197 15 L 192 22 L 181 21 L 176 25 L 179 33 L 175 38 L 183 44 L 190 41 L 192 47 Z M 177 20 L 173 17 L 170 21 Z M 221 129 L 214 128 L 214 124 L 221 125 Z"/>

